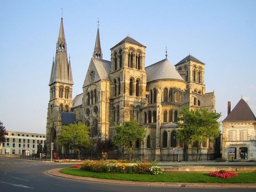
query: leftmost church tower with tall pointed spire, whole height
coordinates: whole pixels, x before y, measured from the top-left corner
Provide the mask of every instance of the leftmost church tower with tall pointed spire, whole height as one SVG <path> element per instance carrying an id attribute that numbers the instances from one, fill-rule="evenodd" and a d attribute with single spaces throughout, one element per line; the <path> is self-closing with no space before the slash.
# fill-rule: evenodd
<path id="1" fill-rule="evenodd" d="M 49 148 L 50 142 L 57 139 L 61 129 L 60 112 L 69 112 L 73 106 L 72 87 L 73 77 L 70 58 L 68 60 L 67 44 L 64 34 L 63 19 L 60 22 L 58 42 L 56 44 L 55 59 L 53 58 L 50 76 L 50 100 L 47 111 L 46 140 Z M 59 121 L 59 122 L 58 122 Z"/>

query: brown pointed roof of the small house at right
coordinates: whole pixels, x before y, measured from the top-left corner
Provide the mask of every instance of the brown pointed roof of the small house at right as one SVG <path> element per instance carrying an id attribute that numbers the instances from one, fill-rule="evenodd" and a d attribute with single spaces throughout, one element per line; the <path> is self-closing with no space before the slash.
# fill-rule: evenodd
<path id="1" fill-rule="evenodd" d="M 223 122 L 256 121 L 251 108 L 244 99 L 241 99 Z"/>

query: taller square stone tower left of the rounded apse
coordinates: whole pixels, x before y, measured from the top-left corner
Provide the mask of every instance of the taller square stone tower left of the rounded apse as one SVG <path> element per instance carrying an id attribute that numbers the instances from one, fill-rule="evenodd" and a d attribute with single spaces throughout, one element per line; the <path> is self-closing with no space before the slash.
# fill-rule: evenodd
<path id="1" fill-rule="evenodd" d="M 147 84 L 145 49 L 130 36 L 110 49 L 110 126 L 132 119 L 141 122 Z"/>

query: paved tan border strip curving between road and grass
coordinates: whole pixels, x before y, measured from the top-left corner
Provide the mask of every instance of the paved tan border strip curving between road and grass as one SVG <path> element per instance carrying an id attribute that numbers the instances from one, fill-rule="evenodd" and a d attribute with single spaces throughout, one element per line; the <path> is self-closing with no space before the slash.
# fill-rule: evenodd
<path id="1" fill-rule="evenodd" d="M 256 183 L 172 183 L 172 182 L 135 182 L 135 181 L 119 181 L 119 180 L 108 180 L 108 179 L 96 179 L 88 177 L 79 177 L 74 175 L 68 175 L 60 173 L 58 169 L 47 171 L 55 177 L 77 179 L 82 181 L 90 182 L 101 182 L 115 185 L 134 185 L 134 186 L 151 186 L 151 187 L 186 187 L 186 188 L 256 188 Z"/>

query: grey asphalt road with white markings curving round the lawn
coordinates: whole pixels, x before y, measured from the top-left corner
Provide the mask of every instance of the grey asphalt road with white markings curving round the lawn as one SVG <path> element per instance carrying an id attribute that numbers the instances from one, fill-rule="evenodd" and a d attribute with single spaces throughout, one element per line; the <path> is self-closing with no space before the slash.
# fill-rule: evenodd
<path id="1" fill-rule="evenodd" d="M 215 192 L 220 189 L 209 188 L 170 188 L 131 185 L 113 185 L 108 183 L 63 179 L 46 173 L 47 170 L 70 165 L 28 161 L 24 159 L 0 158 L 0 191 L 42 191 L 42 192 L 76 192 L 76 191 L 132 191 L 132 192 Z M 222 188 L 221 191 L 255 191 L 255 189 Z"/>

